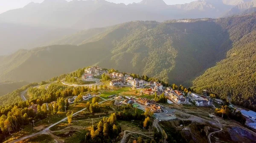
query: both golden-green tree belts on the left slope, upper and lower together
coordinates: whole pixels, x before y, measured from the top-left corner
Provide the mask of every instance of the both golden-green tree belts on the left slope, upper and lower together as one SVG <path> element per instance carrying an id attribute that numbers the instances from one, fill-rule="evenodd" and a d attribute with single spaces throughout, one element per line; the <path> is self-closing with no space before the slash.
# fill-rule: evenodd
<path id="1" fill-rule="evenodd" d="M 32 85 L 37 84 L 30 86 Z M 26 88 L 24 87 L 23 90 Z M 40 88 L 29 88 L 28 93 L 31 94 L 31 99 L 0 107 L 0 140 L 3 139 L 3 135 L 17 132 L 23 126 L 32 123 L 33 120 L 37 122 L 46 118 L 47 115 L 64 111 L 65 106 L 68 109 L 69 104 L 64 97 L 72 95 L 73 89 L 56 83 L 49 85 L 47 91 Z M 51 103 L 52 101 L 56 102 Z M 29 109 L 29 106 L 33 104 L 37 104 L 38 112 L 36 113 L 32 108 Z"/>

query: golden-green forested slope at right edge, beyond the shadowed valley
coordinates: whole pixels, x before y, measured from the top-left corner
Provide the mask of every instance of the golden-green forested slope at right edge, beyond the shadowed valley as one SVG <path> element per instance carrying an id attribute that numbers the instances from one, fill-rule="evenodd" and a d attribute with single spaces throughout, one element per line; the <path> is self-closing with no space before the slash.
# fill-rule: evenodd
<path id="1" fill-rule="evenodd" d="M 256 109 L 256 14 L 219 20 L 228 23 L 233 48 L 214 67 L 199 76 L 193 85 L 199 93 L 206 89 L 221 98 L 230 96 L 244 107 Z M 240 24 L 237 24 L 240 23 Z"/>

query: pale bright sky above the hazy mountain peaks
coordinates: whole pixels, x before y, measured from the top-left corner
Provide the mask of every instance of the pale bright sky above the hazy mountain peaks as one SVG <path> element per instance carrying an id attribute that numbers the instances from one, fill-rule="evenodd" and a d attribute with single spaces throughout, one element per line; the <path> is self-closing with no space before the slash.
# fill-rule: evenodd
<path id="1" fill-rule="evenodd" d="M 26 6 L 30 2 L 35 2 L 35 3 L 41 3 L 44 0 L 0 0 L 0 14 L 8 11 L 10 9 L 15 9 L 15 8 L 22 8 L 23 6 Z M 71 0 L 67 0 L 71 1 Z M 107 0 L 113 3 L 138 3 L 142 0 Z M 168 5 L 173 5 L 173 4 L 182 4 L 182 3 L 190 3 L 195 0 L 164 0 L 166 4 Z"/>

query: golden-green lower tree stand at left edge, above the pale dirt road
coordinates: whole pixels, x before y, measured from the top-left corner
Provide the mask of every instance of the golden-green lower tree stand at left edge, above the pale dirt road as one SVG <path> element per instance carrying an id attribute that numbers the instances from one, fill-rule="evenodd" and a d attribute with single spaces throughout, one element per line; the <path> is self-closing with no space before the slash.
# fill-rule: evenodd
<path id="1" fill-rule="evenodd" d="M 37 112 L 28 107 L 32 104 L 29 101 L 20 101 L 15 105 L 0 108 L 0 140 L 4 139 L 4 135 L 11 135 L 13 132 L 19 131 L 23 126 L 32 123 L 32 121 L 40 121 L 47 115 L 54 115 L 61 110 L 63 98 L 54 104 L 43 104 L 37 106 Z M 60 106 L 58 106 L 60 105 Z M 65 105 L 65 103 L 63 104 Z M 48 107 L 48 108 L 47 108 Z"/>

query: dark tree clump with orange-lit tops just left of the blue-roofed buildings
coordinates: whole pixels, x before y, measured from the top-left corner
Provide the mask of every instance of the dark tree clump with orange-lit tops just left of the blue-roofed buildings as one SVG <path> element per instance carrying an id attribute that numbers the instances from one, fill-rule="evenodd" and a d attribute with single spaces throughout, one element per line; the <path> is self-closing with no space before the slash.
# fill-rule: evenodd
<path id="1" fill-rule="evenodd" d="M 241 114 L 240 111 L 236 112 L 236 108 L 231 108 L 227 105 L 222 106 L 221 108 L 216 108 L 215 115 L 224 119 L 233 119 L 235 121 L 240 122 L 243 125 L 246 122 L 246 118 Z"/>

